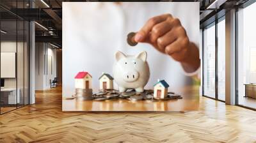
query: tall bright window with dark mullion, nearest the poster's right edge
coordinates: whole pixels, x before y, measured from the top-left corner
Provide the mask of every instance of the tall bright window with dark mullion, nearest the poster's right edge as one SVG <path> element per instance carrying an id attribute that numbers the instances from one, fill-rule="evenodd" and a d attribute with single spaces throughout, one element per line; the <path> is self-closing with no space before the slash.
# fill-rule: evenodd
<path id="1" fill-rule="evenodd" d="M 220 19 L 216 20 L 216 22 L 213 22 L 209 26 L 205 27 L 203 32 L 203 94 L 204 96 L 224 102 L 226 46 L 225 15 Z"/>

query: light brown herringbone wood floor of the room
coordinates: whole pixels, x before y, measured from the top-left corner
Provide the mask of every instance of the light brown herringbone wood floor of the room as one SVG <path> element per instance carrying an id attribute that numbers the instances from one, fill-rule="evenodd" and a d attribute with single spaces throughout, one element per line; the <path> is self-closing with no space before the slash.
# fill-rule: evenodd
<path id="1" fill-rule="evenodd" d="M 62 112 L 61 88 L 0 116 L 0 142 L 256 142 L 256 112 L 200 98 L 193 112 Z"/>

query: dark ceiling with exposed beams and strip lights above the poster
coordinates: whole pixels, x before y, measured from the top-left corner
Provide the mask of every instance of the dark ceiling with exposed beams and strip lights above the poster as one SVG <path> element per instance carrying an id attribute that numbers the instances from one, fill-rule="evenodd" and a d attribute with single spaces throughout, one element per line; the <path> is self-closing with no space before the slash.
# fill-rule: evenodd
<path id="1" fill-rule="evenodd" d="M 16 18 L 35 20 L 36 41 L 51 42 L 61 46 L 62 2 L 68 1 L 77 0 L 1 0 L 1 20 L 6 21 L 4 24 L 10 28 L 13 26 L 10 21 Z M 184 0 L 182 2 L 200 2 L 200 25 L 204 25 L 218 11 L 227 10 L 246 1 L 248 0 Z"/>

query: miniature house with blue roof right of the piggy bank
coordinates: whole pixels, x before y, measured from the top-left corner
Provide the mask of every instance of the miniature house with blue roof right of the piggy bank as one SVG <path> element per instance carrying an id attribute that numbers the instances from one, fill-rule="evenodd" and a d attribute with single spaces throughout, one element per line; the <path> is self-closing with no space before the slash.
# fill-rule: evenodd
<path id="1" fill-rule="evenodd" d="M 154 98 L 164 98 L 167 96 L 169 84 L 165 80 L 158 80 L 154 85 Z"/>

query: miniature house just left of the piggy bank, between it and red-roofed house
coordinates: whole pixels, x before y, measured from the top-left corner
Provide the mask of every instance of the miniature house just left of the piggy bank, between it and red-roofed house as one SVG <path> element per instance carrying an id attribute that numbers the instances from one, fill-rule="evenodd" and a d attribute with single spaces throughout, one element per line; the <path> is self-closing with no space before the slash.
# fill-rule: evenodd
<path id="1" fill-rule="evenodd" d="M 102 73 L 99 77 L 100 89 L 113 89 L 113 77 L 108 73 Z"/>

